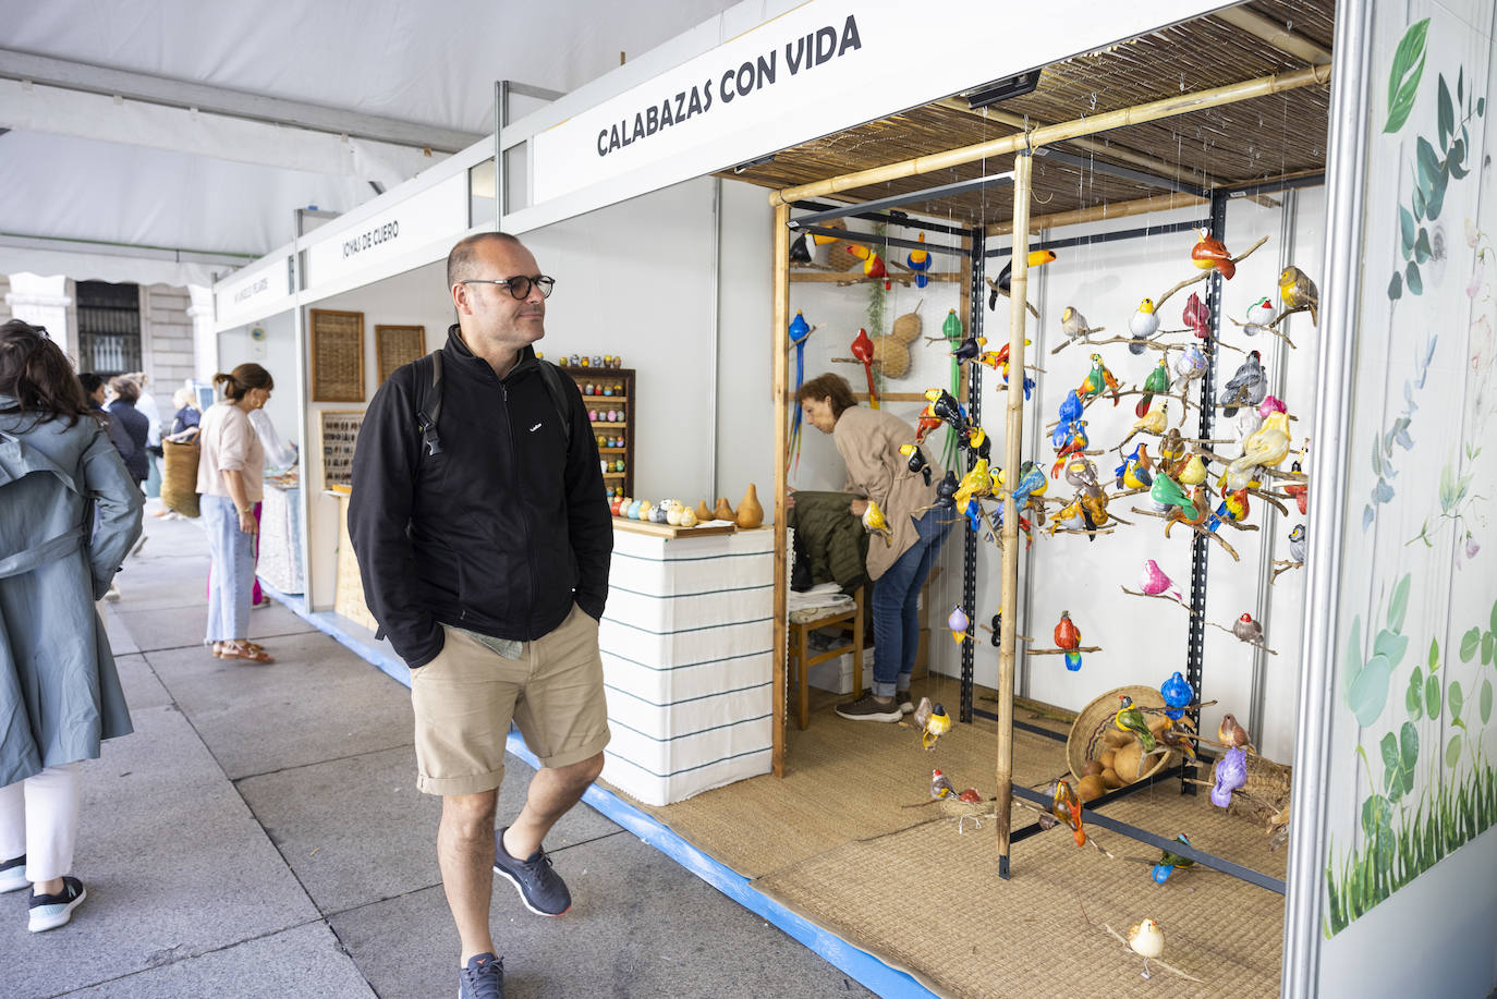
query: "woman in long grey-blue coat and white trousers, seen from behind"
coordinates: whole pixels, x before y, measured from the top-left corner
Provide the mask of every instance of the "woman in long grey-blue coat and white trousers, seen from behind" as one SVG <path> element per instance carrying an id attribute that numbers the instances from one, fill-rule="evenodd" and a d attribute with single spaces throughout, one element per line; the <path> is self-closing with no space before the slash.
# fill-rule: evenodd
<path id="1" fill-rule="evenodd" d="M 78 761 L 132 731 L 94 601 L 142 506 L 67 356 L 42 328 L 0 325 L 0 891 L 33 888 L 33 933 L 85 897 L 69 873 Z"/>

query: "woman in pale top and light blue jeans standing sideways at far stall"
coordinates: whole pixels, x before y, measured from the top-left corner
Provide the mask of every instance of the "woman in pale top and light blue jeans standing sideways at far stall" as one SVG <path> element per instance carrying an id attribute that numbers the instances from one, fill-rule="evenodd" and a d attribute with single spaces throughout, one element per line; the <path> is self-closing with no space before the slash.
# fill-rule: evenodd
<path id="1" fill-rule="evenodd" d="M 198 443 L 198 491 L 213 571 L 208 577 L 208 634 L 213 655 L 244 662 L 275 662 L 249 640 L 250 599 L 254 587 L 254 505 L 265 478 L 265 448 L 249 413 L 265 404 L 275 379 L 259 364 L 241 364 L 229 374 L 214 374 L 225 398 L 202 415 Z"/>

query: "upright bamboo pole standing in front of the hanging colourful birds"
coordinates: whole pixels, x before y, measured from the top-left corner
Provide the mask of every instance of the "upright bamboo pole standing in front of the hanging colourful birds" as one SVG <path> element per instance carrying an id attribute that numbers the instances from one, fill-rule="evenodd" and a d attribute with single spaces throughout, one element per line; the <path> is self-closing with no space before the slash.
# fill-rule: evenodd
<path id="1" fill-rule="evenodd" d="M 1009 274 L 1010 301 L 1028 301 L 1028 213 L 1030 178 L 1034 160 L 1028 153 L 1013 159 L 1013 271 Z M 1024 371 L 1024 309 L 1009 309 L 1009 364 Z M 1016 469 L 1024 457 L 1024 392 L 1007 394 L 1003 442 L 1003 467 Z M 1003 494 L 1003 595 L 998 610 L 1004 622 L 1016 622 L 1019 596 L 1019 508 L 1013 494 Z M 1009 822 L 1013 813 L 1013 629 L 998 638 L 998 876 L 1009 876 Z"/>

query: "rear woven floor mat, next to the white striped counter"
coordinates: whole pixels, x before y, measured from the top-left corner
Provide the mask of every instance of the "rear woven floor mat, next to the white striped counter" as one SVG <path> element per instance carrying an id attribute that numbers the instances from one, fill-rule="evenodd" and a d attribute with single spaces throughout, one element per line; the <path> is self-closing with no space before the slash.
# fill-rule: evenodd
<path id="1" fill-rule="evenodd" d="M 955 690 L 949 690 L 955 693 Z M 915 695 L 922 681 L 915 683 Z M 759 878 L 843 846 L 885 836 L 940 815 L 930 801 L 931 770 L 984 797 L 997 789 L 997 725 L 954 725 L 933 752 L 904 723 L 849 722 L 832 707 L 844 699 L 816 692 L 810 726 L 793 722 L 784 779 L 753 777 L 695 798 L 653 807 L 633 801 L 719 861 Z M 955 698 L 951 705 L 955 711 Z M 1043 786 L 1066 770 L 1066 744 L 1015 731 L 1013 777 Z M 627 795 L 624 795 L 627 797 Z M 903 807 L 903 806 L 918 807 Z M 1027 821 L 1016 815 L 1015 821 Z"/>

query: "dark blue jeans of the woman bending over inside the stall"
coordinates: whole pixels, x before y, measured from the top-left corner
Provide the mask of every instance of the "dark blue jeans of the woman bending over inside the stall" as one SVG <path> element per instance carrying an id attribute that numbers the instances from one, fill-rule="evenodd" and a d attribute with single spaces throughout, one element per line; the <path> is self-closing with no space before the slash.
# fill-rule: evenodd
<path id="1" fill-rule="evenodd" d="M 936 565 L 952 526 L 951 511 L 925 511 L 915 521 L 919 539 L 873 584 L 873 693 L 886 698 L 910 689 L 915 653 L 921 644 L 916 605 L 925 577 Z M 879 544 L 877 539 L 873 544 Z"/>

